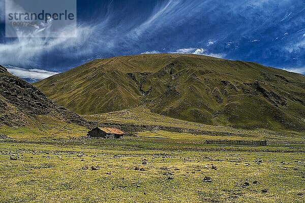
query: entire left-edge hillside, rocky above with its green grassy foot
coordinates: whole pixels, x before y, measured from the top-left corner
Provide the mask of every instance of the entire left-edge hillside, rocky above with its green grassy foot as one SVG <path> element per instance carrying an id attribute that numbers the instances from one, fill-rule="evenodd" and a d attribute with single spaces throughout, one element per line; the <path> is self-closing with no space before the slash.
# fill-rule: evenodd
<path id="1" fill-rule="evenodd" d="M 85 125 L 81 116 L 53 104 L 37 88 L 0 66 L 0 134 L 24 138 L 74 133 L 73 129 L 84 134 Z"/>

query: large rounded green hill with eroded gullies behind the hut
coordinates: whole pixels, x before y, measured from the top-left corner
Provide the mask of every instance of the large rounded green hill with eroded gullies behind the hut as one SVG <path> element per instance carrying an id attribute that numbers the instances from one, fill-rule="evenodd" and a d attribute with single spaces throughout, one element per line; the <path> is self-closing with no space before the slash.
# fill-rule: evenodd
<path id="1" fill-rule="evenodd" d="M 208 125 L 305 131 L 305 76 L 189 54 L 97 59 L 34 84 L 80 114 L 143 106 Z"/>

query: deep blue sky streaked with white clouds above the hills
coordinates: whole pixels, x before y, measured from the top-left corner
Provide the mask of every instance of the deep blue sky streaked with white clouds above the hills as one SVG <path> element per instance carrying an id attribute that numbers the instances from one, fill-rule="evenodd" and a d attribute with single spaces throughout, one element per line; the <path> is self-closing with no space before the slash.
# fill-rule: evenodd
<path id="1" fill-rule="evenodd" d="M 4 11 L 0 0 L 0 64 L 23 78 L 141 53 L 203 54 L 305 73 L 303 0 L 79 0 L 77 37 L 47 39 L 5 37 Z"/>

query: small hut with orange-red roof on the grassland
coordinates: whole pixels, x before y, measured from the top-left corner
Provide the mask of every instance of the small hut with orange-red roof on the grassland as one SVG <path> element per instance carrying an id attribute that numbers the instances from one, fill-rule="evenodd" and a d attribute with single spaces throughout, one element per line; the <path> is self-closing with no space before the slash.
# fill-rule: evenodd
<path id="1" fill-rule="evenodd" d="M 104 139 L 119 139 L 123 137 L 125 133 L 121 130 L 118 130 L 116 128 L 98 128 L 89 131 L 87 133 L 88 137 L 94 137 L 94 138 L 104 138 Z"/>

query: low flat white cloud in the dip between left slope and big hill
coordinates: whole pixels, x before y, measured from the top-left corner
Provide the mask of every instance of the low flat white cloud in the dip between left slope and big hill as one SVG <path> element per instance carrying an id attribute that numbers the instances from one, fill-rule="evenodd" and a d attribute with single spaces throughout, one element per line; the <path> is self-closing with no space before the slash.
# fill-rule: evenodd
<path id="1" fill-rule="evenodd" d="M 28 78 L 33 80 L 41 80 L 59 73 L 59 72 L 47 71 L 37 68 L 25 69 L 10 65 L 6 66 L 6 68 L 13 75 L 16 75 L 21 78 Z"/>

